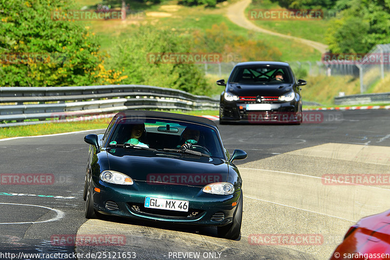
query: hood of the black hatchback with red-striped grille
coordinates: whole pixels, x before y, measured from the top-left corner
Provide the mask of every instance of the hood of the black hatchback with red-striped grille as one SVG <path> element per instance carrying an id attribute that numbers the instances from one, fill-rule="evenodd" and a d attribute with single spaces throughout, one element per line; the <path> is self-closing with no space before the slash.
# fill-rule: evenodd
<path id="1" fill-rule="evenodd" d="M 270 96 L 278 97 L 292 90 L 292 84 L 229 84 L 228 91 L 240 97 Z"/>

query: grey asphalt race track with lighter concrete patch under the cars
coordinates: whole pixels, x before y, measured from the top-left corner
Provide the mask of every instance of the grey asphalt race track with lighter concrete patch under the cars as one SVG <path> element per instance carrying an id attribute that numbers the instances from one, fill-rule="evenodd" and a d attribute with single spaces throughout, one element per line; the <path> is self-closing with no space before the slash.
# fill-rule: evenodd
<path id="1" fill-rule="evenodd" d="M 2 140 L 0 259 L 11 259 L 5 253 L 103 251 L 106 259 L 108 253 L 113 259 L 114 254 L 116 259 L 329 259 L 351 224 L 389 209 L 390 186 L 331 185 L 324 175 L 390 174 L 390 111 L 316 113 L 321 121 L 301 125 L 219 126 L 230 153 L 235 148 L 248 153 L 246 160 L 236 161 L 244 192 L 239 240 L 217 238 L 209 227 L 86 221 L 82 189 L 88 145 L 83 137 L 101 130 Z M 41 174 L 44 185 L 8 185 L 13 174 Z M 76 234 L 117 236 L 122 243 L 75 247 Z M 277 240 L 283 236 L 289 240 Z M 56 240 L 64 237 L 69 240 Z M 291 238 L 309 239 L 294 244 Z M 118 258 L 123 252 L 131 254 Z"/>

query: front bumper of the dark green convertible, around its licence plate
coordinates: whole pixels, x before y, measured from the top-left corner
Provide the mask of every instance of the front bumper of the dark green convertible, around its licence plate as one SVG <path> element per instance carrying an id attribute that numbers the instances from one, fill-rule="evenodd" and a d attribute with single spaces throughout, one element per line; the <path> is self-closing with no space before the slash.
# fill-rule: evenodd
<path id="1" fill-rule="evenodd" d="M 135 181 L 123 186 L 93 178 L 94 208 L 101 214 L 138 220 L 161 221 L 172 224 L 223 226 L 232 223 L 241 191 L 233 195 L 213 195 L 202 192 L 202 187 L 186 185 L 155 185 Z M 94 188 L 100 189 L 96 192 Z M 145 197 L 188 200 L 189 211 L 180 212 L 145 208 Z"/>

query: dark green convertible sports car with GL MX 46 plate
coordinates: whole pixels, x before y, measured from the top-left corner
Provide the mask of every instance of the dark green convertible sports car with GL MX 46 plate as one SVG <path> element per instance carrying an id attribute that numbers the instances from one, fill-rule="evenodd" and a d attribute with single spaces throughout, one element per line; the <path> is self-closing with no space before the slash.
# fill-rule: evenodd
<path id="1" fill-rule="evenodd" d="M 237 239 L 242 180 L 214 121 L 155 111 L 119 112 L 104 134 L 87 135 L 85 217 L 98 214 L 216 226 Z"/>

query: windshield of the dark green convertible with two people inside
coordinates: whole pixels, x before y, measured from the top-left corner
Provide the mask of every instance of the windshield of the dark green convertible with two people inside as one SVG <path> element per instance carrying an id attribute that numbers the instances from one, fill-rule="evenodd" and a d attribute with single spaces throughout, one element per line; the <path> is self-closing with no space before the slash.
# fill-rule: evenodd
<path id="1" fill-rule="evenodd" d="M 116 123 L 109 145 L 130 144 L 135 147 L 189 149 L 223 159 L 223 149 L 216 131 L 208 126 L 176 120 L 122 119 Z"/>

